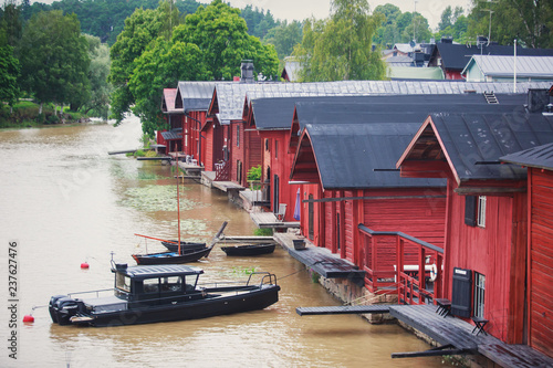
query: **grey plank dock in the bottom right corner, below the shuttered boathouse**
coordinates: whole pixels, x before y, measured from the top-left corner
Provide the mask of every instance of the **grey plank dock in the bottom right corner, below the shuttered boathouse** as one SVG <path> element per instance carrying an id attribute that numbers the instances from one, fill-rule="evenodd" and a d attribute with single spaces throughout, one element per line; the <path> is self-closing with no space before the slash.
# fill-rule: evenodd
<path id="1" fill-rule="evenodd" d="M 472 334 L 474 326 L 436 313 L 435 305 L 394 305 L 392 316 L 461 354 L 481 354 L 502 367 L 553 367 L 553 359 L 526 345 L 508 345 L 491 335 Z M 447 355 L 448 350 L 444 350 Z M 396 356 L 399 357 L 399 356 Z"/>

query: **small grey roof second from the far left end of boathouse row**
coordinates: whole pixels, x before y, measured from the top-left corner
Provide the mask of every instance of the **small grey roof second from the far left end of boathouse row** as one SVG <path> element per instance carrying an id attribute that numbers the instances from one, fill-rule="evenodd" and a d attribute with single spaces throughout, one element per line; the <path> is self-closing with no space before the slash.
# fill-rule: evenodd
<path id="1" fill-rule="evenodd" d="M 185 113 L 190 111 L 207 111 L 213 96 L 215 86 L 228 82 L 179 82 L 176 97 L 176 108 Z"/>

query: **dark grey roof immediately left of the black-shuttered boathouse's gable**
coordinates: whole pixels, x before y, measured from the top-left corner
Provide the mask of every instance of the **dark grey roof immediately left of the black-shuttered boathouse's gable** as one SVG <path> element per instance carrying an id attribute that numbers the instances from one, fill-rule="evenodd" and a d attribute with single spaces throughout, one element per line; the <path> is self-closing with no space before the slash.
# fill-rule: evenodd
<path id="1" fill-rule="evenodd" d="M 445 179 L 400 178 L 394 169 L 420 123 L 307 124 L 325 189 L 445 187 Z"/>

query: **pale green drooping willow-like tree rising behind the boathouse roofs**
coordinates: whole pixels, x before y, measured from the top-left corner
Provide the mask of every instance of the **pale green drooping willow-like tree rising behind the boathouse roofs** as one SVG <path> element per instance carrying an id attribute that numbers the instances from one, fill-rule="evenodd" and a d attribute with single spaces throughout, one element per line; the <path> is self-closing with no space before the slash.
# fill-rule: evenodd
<path id="1" fill-rule="evenodd" d="M 384 21 L 369 15 L 366 0 L 333 0 L 330 19 L 307 20 L 303 40 L 294 49 L 304 82 L 341 80 L 382 80 L 386 70 L 372 38 Z"/>

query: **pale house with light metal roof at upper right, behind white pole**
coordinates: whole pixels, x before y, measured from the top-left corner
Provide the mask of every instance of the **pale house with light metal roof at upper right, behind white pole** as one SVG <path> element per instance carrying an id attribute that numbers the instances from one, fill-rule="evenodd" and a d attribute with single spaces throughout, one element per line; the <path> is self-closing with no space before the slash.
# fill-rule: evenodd
<path id="1" fill-rule="evenodd" d="M 461 75 L 467 82 L 553 82 L 553 56 L 473 55 Z"/>

